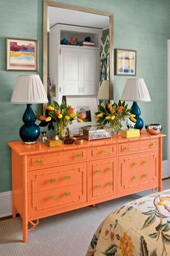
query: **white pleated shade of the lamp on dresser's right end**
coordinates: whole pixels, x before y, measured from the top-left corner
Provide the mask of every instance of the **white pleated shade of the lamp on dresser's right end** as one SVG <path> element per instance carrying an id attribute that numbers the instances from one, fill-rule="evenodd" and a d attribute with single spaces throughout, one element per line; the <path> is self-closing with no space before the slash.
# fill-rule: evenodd
<path id="1" fill-rule="evenodd" d="M 151 101 L 143 78 L 128 79 L 122 92 L 122 101 Z"/>

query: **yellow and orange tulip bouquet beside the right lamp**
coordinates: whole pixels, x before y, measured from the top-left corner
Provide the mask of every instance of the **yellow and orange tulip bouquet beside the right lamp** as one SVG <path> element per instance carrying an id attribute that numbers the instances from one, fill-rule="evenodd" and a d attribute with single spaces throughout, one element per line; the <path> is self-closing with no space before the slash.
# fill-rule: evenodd
<path id="1" fill-rule="evenodd" d="M 130 108 L 128 104 L 125 105 L 125 101 L 119 101 L 117 103 L 107 103 L 106 106 L 98 105 L 98 111 L 95 113 L 98 117 L 97 122 L 104 125 L 109 125 L 113 128 L 114 132 L 118 132 L 122 127 L 121 121 L 129 118 L 135 122 L 135 115 L 130 114 Z"/>

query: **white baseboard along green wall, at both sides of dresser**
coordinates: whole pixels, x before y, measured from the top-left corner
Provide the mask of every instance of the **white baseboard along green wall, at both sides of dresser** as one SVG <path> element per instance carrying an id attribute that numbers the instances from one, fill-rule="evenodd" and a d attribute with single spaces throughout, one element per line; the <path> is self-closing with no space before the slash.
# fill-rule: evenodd
<path id="1" fill-rule="evenodd" d="M 162 178 L 165 179 L 170 176 L 169 161 L 162 162 L 163 174 Z M 0 218 L 12 215 L 12 191 L 0 193 Z"/>

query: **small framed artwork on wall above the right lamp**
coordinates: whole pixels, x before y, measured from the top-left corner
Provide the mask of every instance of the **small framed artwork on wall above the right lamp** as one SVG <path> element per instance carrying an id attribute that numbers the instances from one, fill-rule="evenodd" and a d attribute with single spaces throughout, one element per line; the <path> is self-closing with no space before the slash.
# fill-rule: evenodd
<path id="1" fill-rule="evenodd" d="M 116 75 L 136 75 L 137 51 L 116 49 Z"/>

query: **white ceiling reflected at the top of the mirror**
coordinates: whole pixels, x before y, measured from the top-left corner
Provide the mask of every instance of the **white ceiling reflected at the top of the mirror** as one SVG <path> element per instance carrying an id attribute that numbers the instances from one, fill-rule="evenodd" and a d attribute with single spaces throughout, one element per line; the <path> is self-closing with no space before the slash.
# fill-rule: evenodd
<path id="1" fill-rule="evenodd" d="M 109 17 L 87 12 L 79 12 L 58 7 L 48 7 L 49 25 L 57 23 L 79 25 L 84 27 L 109 27 Z"/>

